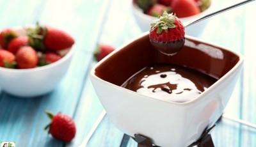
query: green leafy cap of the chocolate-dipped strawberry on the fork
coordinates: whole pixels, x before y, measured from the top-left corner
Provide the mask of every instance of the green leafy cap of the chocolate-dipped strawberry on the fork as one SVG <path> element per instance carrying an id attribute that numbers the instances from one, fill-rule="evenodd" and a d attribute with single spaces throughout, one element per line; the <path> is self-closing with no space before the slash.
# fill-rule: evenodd
<path id="1" fill-rule="evenodd" d="M 168 31 L 168 28 L 175 27 L 175 14 L 173 13 L 168 14 L 164 11 L 163 16 L 158 16 L 158 18 L 154 20 L 155 21 L 150 24 L 150 26 L 152 26 L 150 31 L 154 31 L 154 29 L 157 28 L 157 34 L 161 34 L 163 30 Z"/>

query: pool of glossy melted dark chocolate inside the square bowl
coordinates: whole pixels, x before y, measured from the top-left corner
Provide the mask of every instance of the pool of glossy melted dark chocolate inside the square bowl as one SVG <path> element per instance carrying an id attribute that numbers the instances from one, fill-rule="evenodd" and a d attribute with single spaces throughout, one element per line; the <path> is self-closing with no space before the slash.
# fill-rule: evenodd
<path id="1" fill-rule="evenodd" d="M 122 87 L 149 97 L 172 102 L 188 102 L 217 80 L 196 70 L 177 65 L 147 66 L 129 78 Z"/>

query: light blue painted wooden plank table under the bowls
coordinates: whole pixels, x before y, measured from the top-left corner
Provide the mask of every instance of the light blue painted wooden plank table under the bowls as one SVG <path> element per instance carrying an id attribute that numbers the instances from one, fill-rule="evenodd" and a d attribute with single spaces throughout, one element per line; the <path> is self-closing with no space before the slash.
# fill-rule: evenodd
<path id="1" fill-rule="evenodd" d="M 239 1 L 216 1 L 219 10 Z M 227 116 L 256 123 L 256 3 L 246 4 L 212 17 L 202 34 L 207 42 L 227 47 L 244 56 L 244 69 L 230 98 Z M 0 0 L 0 29 L 27 26 L 37 21 L 59 27 L 76 39 L 71 66 L 63 81 L 42 97 L 19 98 L 0 88 L 0 142 L 16 146 L 79 146 L 103 108 L 88 74 L 97 43 L 118 48 L 142 33 L 131 12 L 131 0 Z M 49 118 L 44 111 L 63 112 L 76 123 L 70 143 L 53 139 L 44 130 Z M 105 116 L 88 146 L 120 146 L 120 132 Z M 215 146 L 256 146 L 256 129 L 226 118 L 212 130 Z M 127 146 L 137 146 L 129 139 Z"/>

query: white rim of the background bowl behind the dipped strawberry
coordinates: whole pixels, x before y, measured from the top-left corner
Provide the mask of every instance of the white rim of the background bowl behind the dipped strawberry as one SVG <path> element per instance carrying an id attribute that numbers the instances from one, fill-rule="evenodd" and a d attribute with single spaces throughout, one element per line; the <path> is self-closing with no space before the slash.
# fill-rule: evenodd
<path id="1" fill-rule="evenodd" d="M 214 0 L 211 0 L 211 4 L 210 6 L 204 10 L 204 12 L 201 12 L 201 13 L 198 13 L 196 15 L 192 15 L 192 16 L 189 16 L 189 17 L 179 17 L 180 20 L 182 20 L 183 22 L 186 22 L 188 20 L 193 20 L 193 19 L 196 19 L 196 18 L 200 18 L 200 17 L 204 17 L 205 15 L 207 15 L 209 12 L 211 12 L 212 10 L 212 7 L 213 7 L 213 2 Z M 132 9 L 134 10 L 134 12 L 136 12 L 138 15 L 140 15 L 141 17 L 144 17 L 146 19 L 154 19 L 156 17 L 152 17 L 150 15 L 147 15 L 145 13 L 143 13 L 143 11 L 141 10 L 141 8 L 139 8 L 139 6 L 135 3 L 134 0 L 132 0 Z"/>

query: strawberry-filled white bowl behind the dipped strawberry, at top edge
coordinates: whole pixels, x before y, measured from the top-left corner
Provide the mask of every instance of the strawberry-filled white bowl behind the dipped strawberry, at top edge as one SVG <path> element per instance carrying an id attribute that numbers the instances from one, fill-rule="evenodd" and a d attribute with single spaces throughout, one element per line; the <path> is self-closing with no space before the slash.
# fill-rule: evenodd
<path id="1" fill-rule="evenodd" d="M 164 11 L 175 13 L 184 23 L 204 17 L 212 9 L 211 0 L 132 0 L 132 13 L 143 32 Z M 207 25 L 207 19 L 186 28 L 186 35 L 198 36 Z"/>

